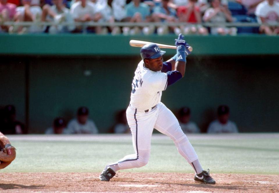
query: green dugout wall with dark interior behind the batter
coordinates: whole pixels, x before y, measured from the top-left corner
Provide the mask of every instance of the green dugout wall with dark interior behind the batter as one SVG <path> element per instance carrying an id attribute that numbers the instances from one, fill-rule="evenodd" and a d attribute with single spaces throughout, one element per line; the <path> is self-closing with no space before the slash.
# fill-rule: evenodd
<path id="1" fill-rule="evenodd" d="M 14 104 L 29 133 L 43 133 L 52 120 L 69 121 L 79 106 L 107 132 L 117 111 L 129 104 L 139 48 L 130 39 L 165 44 L 175 36 L 0 35 L 0 106 Z M 202 131 L 227 104 L 241 132 L 279 131 L 279 38 L 190 36 L 193 55 L 185 77 L 162 96 L 173 112 L 192 110 Z M 165 59 L 175 51 L 166 50 Z"/>

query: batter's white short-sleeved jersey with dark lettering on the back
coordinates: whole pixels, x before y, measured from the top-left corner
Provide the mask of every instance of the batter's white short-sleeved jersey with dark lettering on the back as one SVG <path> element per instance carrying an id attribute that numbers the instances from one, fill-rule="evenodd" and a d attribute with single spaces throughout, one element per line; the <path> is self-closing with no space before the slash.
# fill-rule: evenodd
<path id="1" fill-rule="evenodd" d="M 139 110 L 147 110 L 161 101 L 162 91 L 166 90 L 167 74 L 154 72 L 144 67 L 143 60 L 138 63 L 132 83 L 130 104 Z"/>

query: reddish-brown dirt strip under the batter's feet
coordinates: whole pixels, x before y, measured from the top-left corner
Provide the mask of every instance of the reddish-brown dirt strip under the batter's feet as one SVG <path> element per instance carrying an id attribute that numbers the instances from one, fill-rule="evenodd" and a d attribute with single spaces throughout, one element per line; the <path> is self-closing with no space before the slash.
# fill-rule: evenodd
<path id="1" fill-rule="evenodd" d="M 0 192 L 279 192 L 279 175 L 212 174 L 216 185 L 193 174 L 119 172 L 110 182 L 99 173 L 1 173 Z"/>

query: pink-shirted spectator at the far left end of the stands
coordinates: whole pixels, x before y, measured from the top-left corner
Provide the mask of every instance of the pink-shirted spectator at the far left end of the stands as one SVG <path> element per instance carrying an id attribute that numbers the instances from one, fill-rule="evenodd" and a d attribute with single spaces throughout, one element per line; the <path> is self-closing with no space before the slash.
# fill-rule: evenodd
<path id="1" fill-rule="evenodd" d="M 7 32 L 9 26 L 4 26 L 4 22 L 13 21 L 15 17 L 16 5 L 8 3 L 7 0 L 0 0 L 0 32 Z M 1 30 L 2 29 L 2 30 Z"/>

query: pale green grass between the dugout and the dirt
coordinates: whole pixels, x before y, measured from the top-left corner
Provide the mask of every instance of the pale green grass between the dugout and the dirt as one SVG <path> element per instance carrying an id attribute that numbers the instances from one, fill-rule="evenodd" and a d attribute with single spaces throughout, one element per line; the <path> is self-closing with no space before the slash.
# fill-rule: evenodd
<path id="1" fill-rule="evenodd" d="M 278 134 L 208 137 L 189 135 L 204 169 L 213 173 L 279 174 Z M 100 172 L 109 162 L 134 153 L 131 137 L 94 136 L 85 141 L 38 141 L 10 137 L 17 158 L 1 172 Z M 148 165 L 129 172 L 193 172 L 173 141 L 155 135 Z M 228 135 L 229 136 L 229 135 Z M 60 137 L 60 136 L 59 136 Z M 63 137 L 63 136 L 61 136 Z M 34 139 L 36 136 L 34 136 Z"/>

